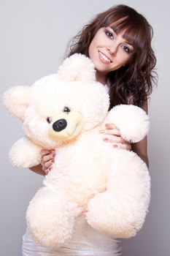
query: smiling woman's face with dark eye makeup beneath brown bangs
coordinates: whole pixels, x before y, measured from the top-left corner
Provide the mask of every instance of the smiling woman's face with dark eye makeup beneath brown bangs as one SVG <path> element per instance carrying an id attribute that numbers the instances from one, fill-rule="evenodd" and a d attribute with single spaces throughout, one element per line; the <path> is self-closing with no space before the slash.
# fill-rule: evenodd
<path id="1" fill-rule="evenodd" d="M 107 75 L 109 72 L 125 66 L 134 54 L 133 46 L 115 34 L 111 27 L 98 29 L 88 49 L 97 73 Z"/>

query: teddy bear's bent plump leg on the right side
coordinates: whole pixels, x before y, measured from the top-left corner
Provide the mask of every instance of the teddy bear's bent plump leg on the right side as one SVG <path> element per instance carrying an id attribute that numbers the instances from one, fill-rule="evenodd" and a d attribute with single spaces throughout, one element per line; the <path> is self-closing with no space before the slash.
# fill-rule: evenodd
<path id="1" fill-rule="evenodd" d="M 98 231 L 115 238 L 135 236 L 142 227 L 150 202 L 150 176 L 147 166 L 133 156 L 110 173 L 106 192 L 88 203 L 86 219 Z"/>

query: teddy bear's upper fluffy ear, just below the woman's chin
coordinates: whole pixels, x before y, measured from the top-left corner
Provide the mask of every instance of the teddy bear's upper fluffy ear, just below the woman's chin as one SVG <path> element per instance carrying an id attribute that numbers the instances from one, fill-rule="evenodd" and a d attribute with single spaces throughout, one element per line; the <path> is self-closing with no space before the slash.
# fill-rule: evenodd
<path id="1" fill-rule="evenodd" d="M 58 69 L 58 78 L 67 82 L 96 81 L 96 70 L 88 57 L 81 53 L 75 53 L 63 61 Z"/>

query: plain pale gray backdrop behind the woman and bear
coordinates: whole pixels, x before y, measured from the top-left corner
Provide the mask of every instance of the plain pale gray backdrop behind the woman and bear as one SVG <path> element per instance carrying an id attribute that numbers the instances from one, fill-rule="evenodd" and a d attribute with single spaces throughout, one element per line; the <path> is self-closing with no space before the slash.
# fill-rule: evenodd
<path id="1" fill-rule="evenodd" d="M 150 213 L 135 238 L 123 241 L 123 256 L 169 256 L 169 1 L 0 1 L 0 93 L 9 86 L 30 85 L 55 72 L 67 42 L 98 12 L 115 4 L 134 7 L 152 24 L 159 75 L 152 94 L 148 139 L 152 200 Z M 8 151 L 22 135 L 20 122 L 1 104 L 1 217 L 3 256 L 20 256 L 25 213 L 42 176 L 10 165 Z"/>

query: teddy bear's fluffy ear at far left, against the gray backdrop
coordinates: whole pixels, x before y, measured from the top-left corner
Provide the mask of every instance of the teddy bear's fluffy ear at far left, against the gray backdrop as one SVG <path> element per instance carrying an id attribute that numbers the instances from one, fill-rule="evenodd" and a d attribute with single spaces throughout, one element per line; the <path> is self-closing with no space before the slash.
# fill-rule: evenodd
<path id="1" fill-rule="evenodd" d="M 4 93 L 4 105 L 12 115 L 23 120 L 24 113 L 31 101 L 30 86 L 14 86 Z"/>

